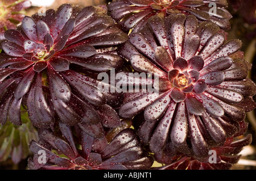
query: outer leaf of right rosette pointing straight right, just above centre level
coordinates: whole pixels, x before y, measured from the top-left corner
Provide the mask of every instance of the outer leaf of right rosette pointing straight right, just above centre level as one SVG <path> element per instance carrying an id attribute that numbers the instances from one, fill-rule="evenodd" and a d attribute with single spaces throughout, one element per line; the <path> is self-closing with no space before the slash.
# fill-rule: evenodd
<path id="1" fill-rule="evenodd" d="M 226 81 L 242 80 L 247 77 L 247 71 L 244 68 L 234 68 L 223 71 Z"/>

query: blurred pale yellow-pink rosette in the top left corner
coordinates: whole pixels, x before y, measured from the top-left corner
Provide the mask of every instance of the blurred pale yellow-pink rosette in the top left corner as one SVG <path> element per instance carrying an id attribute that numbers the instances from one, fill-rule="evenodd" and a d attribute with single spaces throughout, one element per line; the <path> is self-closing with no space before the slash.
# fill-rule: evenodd
<path id="1" fill-rule="evenodd" d="M 22 10 L 30 6 L 31 2 L 26 0 L 2 0 L 0 2 L 0 40 L 4 39 L 6 30 L 16 29 L 16 24 L 21 22 L 25 16 Z"/>

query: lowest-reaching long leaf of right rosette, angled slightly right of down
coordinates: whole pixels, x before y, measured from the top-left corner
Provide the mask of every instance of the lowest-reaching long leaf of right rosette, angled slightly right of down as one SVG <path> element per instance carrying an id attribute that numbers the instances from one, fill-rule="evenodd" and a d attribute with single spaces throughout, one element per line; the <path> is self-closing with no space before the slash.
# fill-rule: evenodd
<path id="1" fill-rule="evenodd" d="M 188 113 L 188 129 L 193 154 L 195 154 L 197 158 L 204 158 L 207 157 L 209 150 L 207 142 L 204 140 L 203 134 L 200 132 L 197 121 L 200 120 L 197 120 L 194 115 Z"/>

